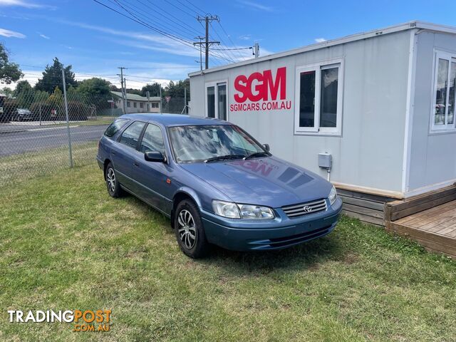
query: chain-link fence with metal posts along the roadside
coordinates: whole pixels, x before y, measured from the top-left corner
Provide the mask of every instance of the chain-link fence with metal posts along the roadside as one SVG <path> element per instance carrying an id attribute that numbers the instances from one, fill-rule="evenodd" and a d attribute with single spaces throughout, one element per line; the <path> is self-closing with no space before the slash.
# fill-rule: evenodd
<path id="1" fill-rule="evenodd" d="M 123 115 L 114 93 L 68 87 L 53 93 L 24 90 L 0 97 L 0 186 L 46 175 L 63 167 L 95 163 L 97 142 Z M 160 103 L 129 100 L 127 113 L 160 113 Z M 162 99 L 163 113 L 185 113 L 183 98 Z M 68 115 L 67 115 L 68 114 Z"/>

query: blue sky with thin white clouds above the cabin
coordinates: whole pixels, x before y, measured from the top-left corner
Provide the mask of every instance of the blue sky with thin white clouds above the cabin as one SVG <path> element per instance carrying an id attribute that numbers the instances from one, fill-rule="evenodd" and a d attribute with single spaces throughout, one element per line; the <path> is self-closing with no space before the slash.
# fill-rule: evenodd
<path id="1" fill-rule="evenodd" d="M 456 26 L 455 0 L 97 1 L 0 0 L 0 42 L 32 85 L 54 57 L 78 80 L 98 76 L 116 86 L 123 66 L 128 88 L 187 78 L 199 70 L 198 14 L 219 17 L 209 26 L 211 40 L 221 41 L 209 66 L 253 58 L 254 43 L 265 56 L 415 19 Z M 227 48 L 238 50 L 216 50 Z"/>

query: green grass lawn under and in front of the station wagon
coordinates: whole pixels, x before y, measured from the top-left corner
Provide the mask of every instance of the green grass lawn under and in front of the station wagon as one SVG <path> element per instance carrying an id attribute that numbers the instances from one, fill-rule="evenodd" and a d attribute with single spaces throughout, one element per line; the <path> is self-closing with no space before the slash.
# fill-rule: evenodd
<path id="1" fill-rule="evenodd" d="M 280 252 L 192 260 L 90 164 L 0 189 L 0 340 L 455 341 L 456 264 L 343 217 Z M 6 310 L 112 309 L 105 333 Z"/>

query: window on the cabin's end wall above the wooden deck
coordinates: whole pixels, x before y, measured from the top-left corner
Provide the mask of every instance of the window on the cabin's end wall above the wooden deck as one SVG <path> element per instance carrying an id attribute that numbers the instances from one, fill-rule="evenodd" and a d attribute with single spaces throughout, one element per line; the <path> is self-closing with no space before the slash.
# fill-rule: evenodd
<path id="1" fill-rule="evenodd" d="M 455 130 L 456 54 L 437 51 L 431 129 Z"/>

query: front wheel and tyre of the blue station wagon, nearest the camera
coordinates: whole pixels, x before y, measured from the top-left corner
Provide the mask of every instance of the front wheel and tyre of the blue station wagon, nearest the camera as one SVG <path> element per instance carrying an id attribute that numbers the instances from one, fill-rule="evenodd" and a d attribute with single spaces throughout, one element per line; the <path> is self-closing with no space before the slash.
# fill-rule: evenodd
<path id="1" fill-rule="evenodd" d="M 184 199 L 177 204 L 174 216 L 174 229 L 180 249 L 190 258 L 199 259 L 207 256 L 207 242 L 201 215 L 194 202 Z"/>

